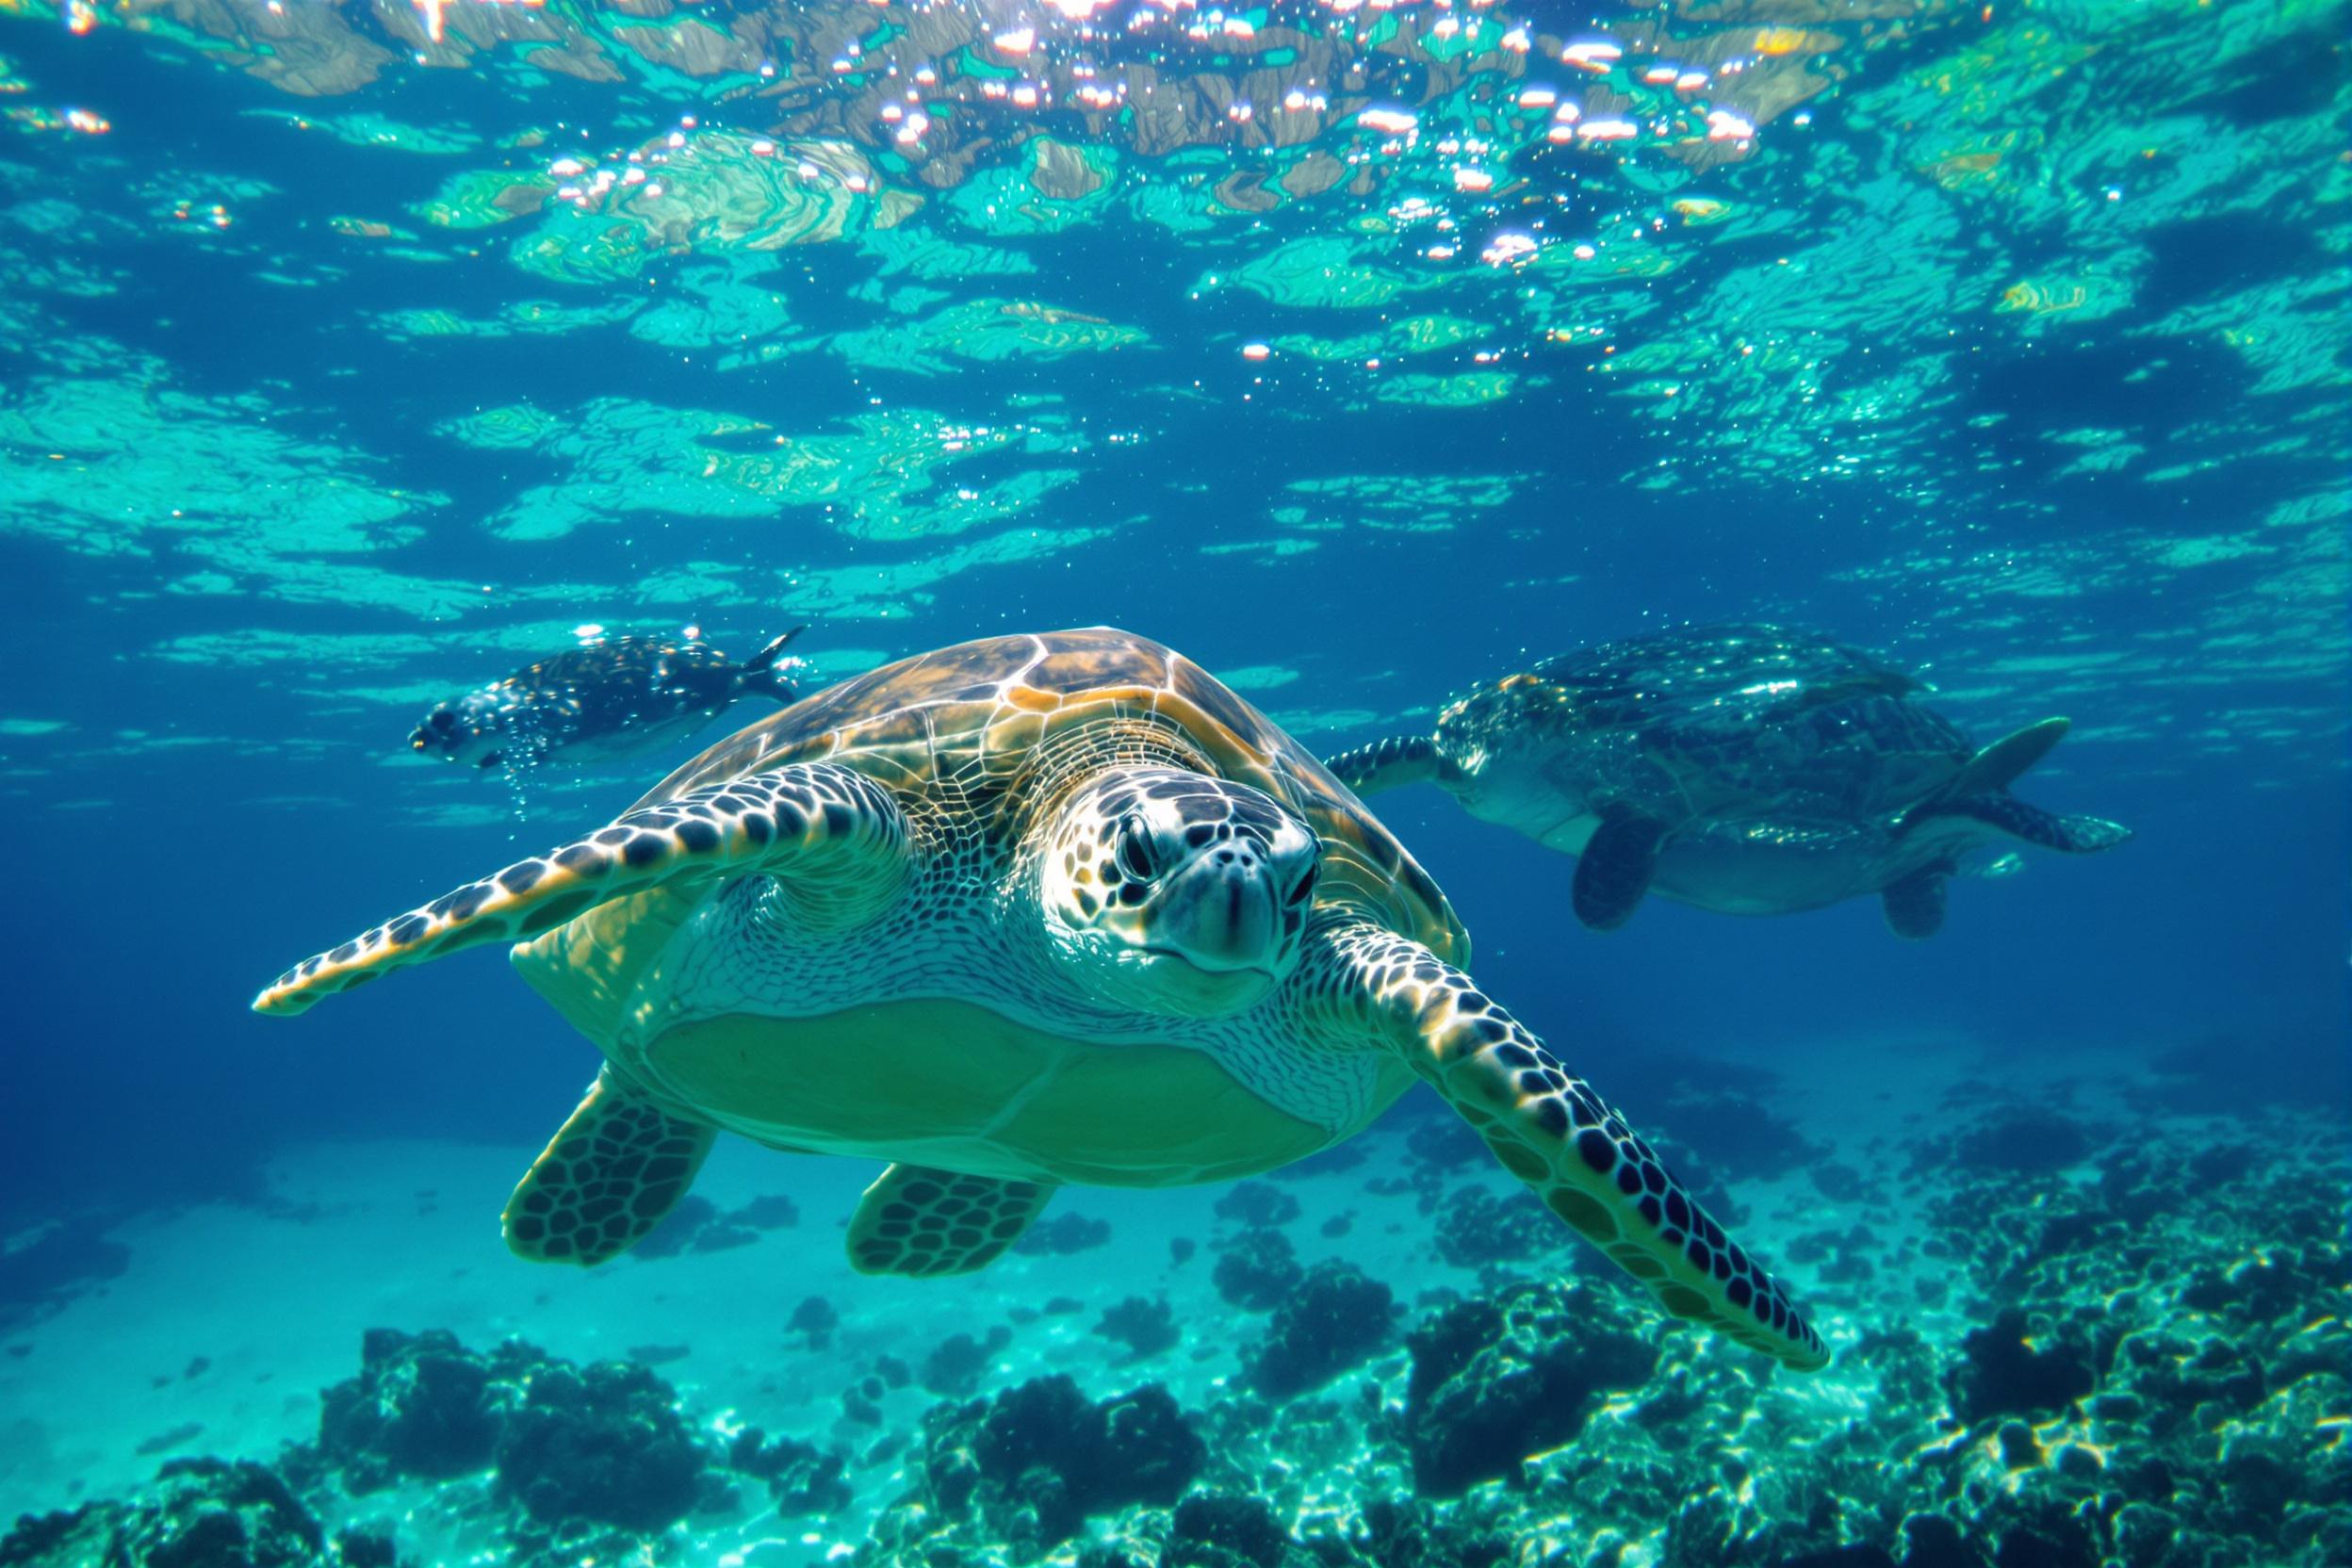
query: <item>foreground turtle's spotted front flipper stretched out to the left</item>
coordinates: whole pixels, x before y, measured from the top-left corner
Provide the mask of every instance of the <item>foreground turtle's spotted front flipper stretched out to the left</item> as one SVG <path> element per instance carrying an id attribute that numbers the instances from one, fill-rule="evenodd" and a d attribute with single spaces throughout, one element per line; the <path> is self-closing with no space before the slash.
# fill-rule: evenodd
<path id="1" fill-rule="evenodd" d="M 442 893 L 332 952 L 303 959 L 254 997 L 256 1013 L 301 1013 L 376 976 L 482 943 L 517 943 L 656 886 L 764 870 L 833 924 L 898 891 L 908 825 L 856 769 L 802 762 L 628 811 L 609 827 Z"/>

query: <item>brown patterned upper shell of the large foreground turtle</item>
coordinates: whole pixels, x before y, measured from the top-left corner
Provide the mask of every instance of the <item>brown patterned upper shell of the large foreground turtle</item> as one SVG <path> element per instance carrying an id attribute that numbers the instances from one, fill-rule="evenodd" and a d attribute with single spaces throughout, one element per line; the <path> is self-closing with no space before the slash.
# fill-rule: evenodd
<path id="1" fill-rule="evenodd" d="M 1454 905 L 1312 752 L 1190 658 L 1115 628 L 983 637 L 868 670 L 720 741 L 637 804 L 830 759 L 964 825 L 1018 832 L 1056 780 L 1169 745 L 1305 818 L 1324 851 L 1317 910 L 1468 964 Z"/>

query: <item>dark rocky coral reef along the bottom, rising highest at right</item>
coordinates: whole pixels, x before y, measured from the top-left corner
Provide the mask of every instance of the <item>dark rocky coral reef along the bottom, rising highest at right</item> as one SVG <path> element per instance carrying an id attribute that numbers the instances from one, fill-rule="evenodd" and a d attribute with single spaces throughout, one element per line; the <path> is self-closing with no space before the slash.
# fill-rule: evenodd
<path id="1" fill-rule="evenodd" d="M 2352 1288 L 2340 1140 L 2284 1112 L 2230 1135 L 2065 1112 L 2082 1145 L 2060 1180 L 2020 1168 L 2058 1145 L 2006 1143 L 2034 1126 L 2009 1110 L 1966 1105 L 1922 1143 L 1842 1150 L 1830 1182 L 1790 1182 L 1818 1222 L 1788 1253 L 1823 1300 L 1863 1302 L 1837 1307 L 1839 1361 L 1818 1378 L 1675 1326 L 1613 1276 L 1505 1279 L 1465 1251 L 1475 1291 L 1406 1309 L 1251 1225 L 1218 1253 L 1235 1300 L 1216 1328 L 1178 1324 L 1171 1291 L 1094 1302 L 1089 1335 L 1068 1321 L 1089 1307 L 1056 1298 L 1007 1307 L 1037 1324 L 1018 1347 L 1000 1326 L 920 1368 L 866 1352 L 840 1406 L 863 1450 L 699 1425 L 642 1363 L 372 1331 L 358 1375 L 322 1394 L 315 1446 L 174 1460 L 120 1500 L 26 1516 L 0 1568 L 393 1568 L 428 1537 L 560 1568 L 670 1561 L 717 1528 L 757 1542 L 776 1521 L 811 1521 L 858 1568 L 2352 1559 L 2352 1328 L 2328 1309 Z M 1957 1157 L 1985 1126 L 2009 1154 Z M 1912 1164 L 1922 1147 L 1947 1159 Z M 1256 1338 L 1221 1342 L 1244 1314 L 1265 1314 Z M 830 1307 L 802 1316 L 800 1338 L 866 1333 Z M 988 1387 L 1030 1352 L 1101 1366 L 1101 1340 L 1192 1342 L 1207 1394 L 1094 1401 L 1065 1373 Z M 971 1396 L 917 1418 L 910 1392 L 941 1385 Z"/>

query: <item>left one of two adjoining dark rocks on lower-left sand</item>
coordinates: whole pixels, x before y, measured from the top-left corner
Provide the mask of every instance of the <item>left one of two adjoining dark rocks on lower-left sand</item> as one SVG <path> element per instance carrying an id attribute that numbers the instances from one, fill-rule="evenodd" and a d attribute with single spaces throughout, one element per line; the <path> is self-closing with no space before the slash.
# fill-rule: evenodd
<path id="1" fill-rule="evenodd" d="M 353 1495 L 400 1476 L 447 1481 L 489 1469 L 520 1371 L 510 1359 L 494 1368 L 447 1328 L 369 1328 L 360 1375 L 320 1394 L 320 1455 Z"/>

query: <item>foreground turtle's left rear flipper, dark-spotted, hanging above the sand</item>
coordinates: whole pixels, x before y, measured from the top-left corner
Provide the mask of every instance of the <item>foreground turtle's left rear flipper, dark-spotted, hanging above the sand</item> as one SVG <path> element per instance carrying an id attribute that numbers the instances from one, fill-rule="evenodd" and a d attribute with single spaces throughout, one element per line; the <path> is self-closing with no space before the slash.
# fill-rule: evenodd
<path id="1" fill-rule="evenodd" d="M 506 1248 L 581 1267 L 619 1258 L 677 1208 L 715 1138 L 607 1067 L 506 1199 Z"/>

